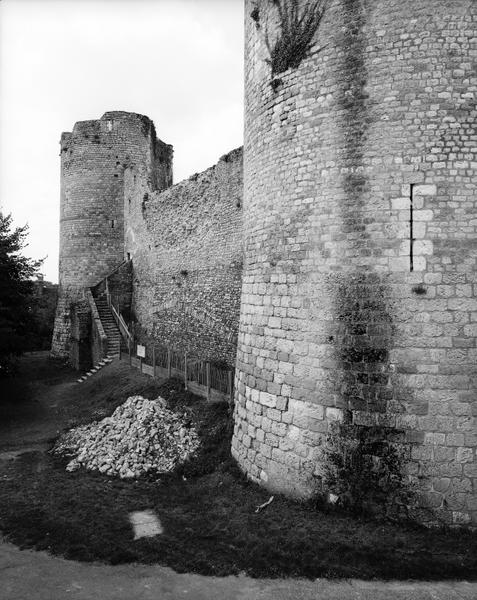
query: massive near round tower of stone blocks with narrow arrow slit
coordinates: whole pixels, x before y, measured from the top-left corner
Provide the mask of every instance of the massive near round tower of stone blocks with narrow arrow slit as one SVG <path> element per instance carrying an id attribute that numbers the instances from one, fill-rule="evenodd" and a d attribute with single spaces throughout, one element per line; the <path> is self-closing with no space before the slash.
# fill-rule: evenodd
<path id="1" fill-rule="evenodd" d="M 477 4 L 331 0 L 272 77 L 275 10 L 246 2 L 233 454 L 309 496 L 332 422 L 395 428 L 417 518 L 475 525 Z"/>

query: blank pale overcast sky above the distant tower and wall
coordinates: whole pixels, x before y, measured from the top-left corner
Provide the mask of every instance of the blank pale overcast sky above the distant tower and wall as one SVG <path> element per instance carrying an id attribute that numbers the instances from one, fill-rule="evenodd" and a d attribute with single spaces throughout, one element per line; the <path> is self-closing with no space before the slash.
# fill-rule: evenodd
<path id="1" fill-rule="evenodd" d="M 243 0 L 0 0 L 0 206 L 58 280 L 62 131 L 150 117 L 174 182 L 243 138 Z"/>

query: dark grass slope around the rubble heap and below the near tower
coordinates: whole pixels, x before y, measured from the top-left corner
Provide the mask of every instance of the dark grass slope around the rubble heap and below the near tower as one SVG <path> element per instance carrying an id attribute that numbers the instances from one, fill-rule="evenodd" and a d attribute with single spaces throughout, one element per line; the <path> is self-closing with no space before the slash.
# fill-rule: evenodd
<path id="1" fill-rule="evenodd" d="M 270 494 L 246 481 L 230 458 L 228 407 L 207 405 L 177 381 L 161 384 L 125 363 L 81 385 L 67 371 L 56 378 L 48 377 L 48 369 L 39 373 L 30 376 L 31 395 L 38 389 L 42 397 L 62 392 L 56 410 L 65 425 L 111 414 L 135 393 L 161 395 L 189 415 L 202 447 L 159 481 L 68 473 L 65 460 L 42 452 L 0 460 L 0 530 L 23 548 L 205 575 L 477 579 L 475 533 L 357 519 L 280 496 L 256 513 Z M 24 419 L 25 411 L 19 412 Z M 143 509 L 157 514 L 164 533 L 134 541 L 128 515 Z"/>

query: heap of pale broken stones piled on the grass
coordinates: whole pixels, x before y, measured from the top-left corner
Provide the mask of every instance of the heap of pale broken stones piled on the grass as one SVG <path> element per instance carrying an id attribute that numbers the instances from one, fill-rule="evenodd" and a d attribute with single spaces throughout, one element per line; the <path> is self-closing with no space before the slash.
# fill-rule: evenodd
<path id="1" fill-rule="evenodd" d="M 62 435 L 52 452 L 73 457 L 66 469 L 84 467 L 121 478 L 167 473 L 199 447 L 187 418 L 167 408 L 162 398 L 131 396 L 110 417 Z"/>

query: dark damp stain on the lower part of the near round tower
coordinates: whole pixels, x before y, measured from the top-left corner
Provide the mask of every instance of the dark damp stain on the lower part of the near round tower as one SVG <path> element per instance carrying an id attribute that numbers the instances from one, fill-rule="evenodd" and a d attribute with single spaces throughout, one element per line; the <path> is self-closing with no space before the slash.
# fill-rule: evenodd
<path id="1" fill-rule="evenodd" d="M 325 450 L 324 484 L 355 511 L 409 518 L 419 504 L 409 476 L 411 444 L 396 427 L 412 394 L 393 377 L 391 292 L 376 273 L 334 280 L 338 327 L 336 359 L 343 422 L 332 423 Z"/>

